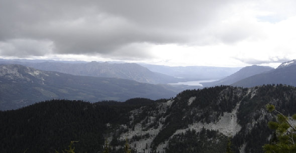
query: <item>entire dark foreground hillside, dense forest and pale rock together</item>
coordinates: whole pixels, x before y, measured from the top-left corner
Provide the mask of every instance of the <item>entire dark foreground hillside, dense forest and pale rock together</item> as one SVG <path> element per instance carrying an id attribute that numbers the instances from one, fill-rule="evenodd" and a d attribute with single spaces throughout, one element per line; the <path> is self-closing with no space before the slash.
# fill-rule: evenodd
<path id="1" fill-rule="evenodd" d="M 285 115 L 296 110 L 296 88 L 216 86 L 185 90 L 171 99 L 126 102 L 51 100 L 22 109 L 0 111 L 1 152 L 53 152 L 71 140 L 77 152 L 262 152 L 273 131 L 267 122 L 271 103 Z M 232 137 L 232 138 L 231 138 Z"/>

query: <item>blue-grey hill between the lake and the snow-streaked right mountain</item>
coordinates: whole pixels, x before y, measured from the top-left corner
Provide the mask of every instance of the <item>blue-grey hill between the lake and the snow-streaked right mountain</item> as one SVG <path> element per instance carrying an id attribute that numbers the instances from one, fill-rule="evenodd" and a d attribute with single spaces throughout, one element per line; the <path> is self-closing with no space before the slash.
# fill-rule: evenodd
<path id="1" fill-rule="evenodd" d="M 216 86 L 216 85 L 230 85 L 233 84 L 241 79 L 247 78 L 249 76 L 259 74 L 262 72 L 266 72 L 269 70 L 272 70 L 274 68 L 269 66 L 258 66 L 258 65 L 252 65 L 252 66 L 246 66 L 240 69 L 239 71 L 222 78 L 220 80 L 214 81 L 214 82 L 208 82 L 208 83 L 202 83 L 204 86 Z"/>

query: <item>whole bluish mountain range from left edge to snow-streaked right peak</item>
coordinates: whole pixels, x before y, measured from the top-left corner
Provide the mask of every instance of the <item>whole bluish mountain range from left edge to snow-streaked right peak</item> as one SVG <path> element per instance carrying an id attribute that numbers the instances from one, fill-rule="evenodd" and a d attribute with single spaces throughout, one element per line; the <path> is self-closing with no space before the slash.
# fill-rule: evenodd
<path id="1" fill-rule="evenodd" d="M 146 63 L 122 63 L 122 62 L 59 62 L 55 60 L 29 60 L 0 59 L 0 63 L 18 63 L 47 71 L 58 71 L 73 75 L 113 77 L 135 80 L 145 83 L 166 84 L 190 80 L 217 79 L 214 82 L 204 82 L 204 86 L 238 85 L 256 86 L 262 84 L 284 83 L 295 85 L 293 79 L 293 65 L 296 59 L 280 64 L 276 69 L 269 66 L 240 67 L 210 67 L 210 66 L 164 66 Z M 291 67 L 290 67 L 291 66 Z M 283 69 L 281 69 L 283 68 Z M 288 68 L 289 70 L 285 70 Z M 281 69 L 281 70 L 280 70 Z M 173 86 L 173 90 L 179 91 L 180 85 Z M 198 88 L 201 88 L 199 86 Z M 196 88 L 188 87 L 185 88 Z M 185 89 L 184 88 L 184 89 Z"/>

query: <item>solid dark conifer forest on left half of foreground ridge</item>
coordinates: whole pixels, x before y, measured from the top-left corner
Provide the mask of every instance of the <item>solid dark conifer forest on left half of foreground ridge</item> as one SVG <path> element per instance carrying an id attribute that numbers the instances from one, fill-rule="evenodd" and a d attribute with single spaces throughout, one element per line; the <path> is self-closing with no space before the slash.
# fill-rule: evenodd
<path id="1" fill-rule="evenodd" d="M 77 151 L 97 152 L 105 142 L 106 123 L 125 123 L 128 112 L 141 105 L 50 100 L 0 111 L 0 152 L 54 152 L 67 148 L 71 140 L 79 141 L 75 143 Z"/>

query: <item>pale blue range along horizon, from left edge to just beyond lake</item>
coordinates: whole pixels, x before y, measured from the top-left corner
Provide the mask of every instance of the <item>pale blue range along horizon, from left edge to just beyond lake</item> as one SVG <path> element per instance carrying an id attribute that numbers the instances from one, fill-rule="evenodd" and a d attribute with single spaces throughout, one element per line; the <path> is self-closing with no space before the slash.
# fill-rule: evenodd
<path id="1" fill-rule="evenodd" d="M 22 64 L 41 70 L 73 75 L 118 77 L 145 83 L 175 83 L 190 80 L 221 79 L 241 67 L 165 66 L 146 63 L 86 62 L 30 59 L 0 59 L 0 64 Z M 147 69 L 148 68 L 148 69 Z"/>

